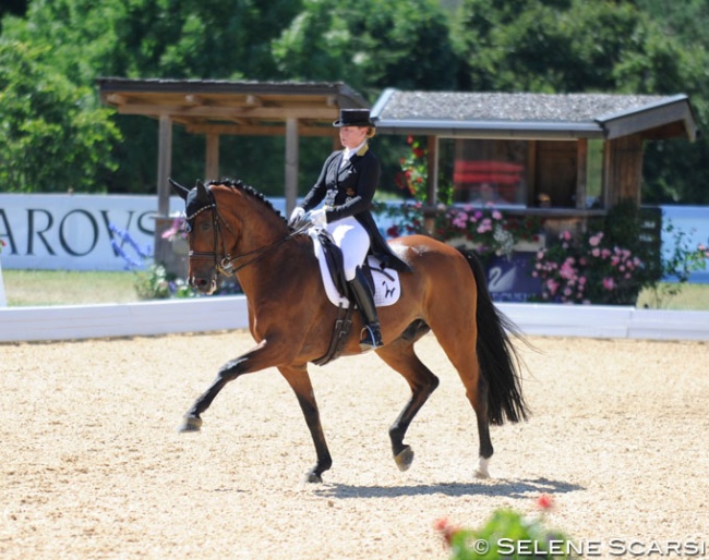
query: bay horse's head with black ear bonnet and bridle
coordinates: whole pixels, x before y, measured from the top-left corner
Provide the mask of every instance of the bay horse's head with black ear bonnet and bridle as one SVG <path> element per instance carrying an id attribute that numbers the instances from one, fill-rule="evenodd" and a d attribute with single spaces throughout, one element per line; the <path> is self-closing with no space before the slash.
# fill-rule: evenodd
<path id="1" fill-rule="evenodd" d="M 202 181 L 197 181 L 194 188 L 182 186 L 172 179 L 169 181 L 185 205 L 185 229 L 190 241 L 190 285 L 211 294 L 217 288 L 217 271 L 223 266 L 231 266 L 225 260 L 228 249 L 225 247 L 224 232 L 220 231 L 214 193 Z"/>

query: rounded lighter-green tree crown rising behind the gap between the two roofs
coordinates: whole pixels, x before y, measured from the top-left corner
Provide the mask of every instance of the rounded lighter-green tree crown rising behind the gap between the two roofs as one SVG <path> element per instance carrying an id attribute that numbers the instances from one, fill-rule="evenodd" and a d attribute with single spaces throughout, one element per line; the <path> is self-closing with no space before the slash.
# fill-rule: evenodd
<path id="1" fill-rule="evenodd" d="M 370 93 L 455 88 L 459 66 L 435 0 L 304 0 L 273 52 L 281 75 Z"/>

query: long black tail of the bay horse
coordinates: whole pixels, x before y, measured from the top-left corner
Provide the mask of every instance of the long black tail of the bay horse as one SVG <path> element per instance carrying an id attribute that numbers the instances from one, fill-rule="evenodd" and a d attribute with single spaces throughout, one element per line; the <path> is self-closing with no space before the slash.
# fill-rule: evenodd
<path id="1" fill-rule="evenodd" d="M 485 271 L 480 260 L 468 251 L 460 251 L 468 260 L 478 288 L 478 363 L 481 382 L 488 385 L 488 421 L 502 425 L 527 419 L 528 409 L 521 393 L 521 362 L 509 334 L 521 339 L 517 326 L 492 301 Z"/>

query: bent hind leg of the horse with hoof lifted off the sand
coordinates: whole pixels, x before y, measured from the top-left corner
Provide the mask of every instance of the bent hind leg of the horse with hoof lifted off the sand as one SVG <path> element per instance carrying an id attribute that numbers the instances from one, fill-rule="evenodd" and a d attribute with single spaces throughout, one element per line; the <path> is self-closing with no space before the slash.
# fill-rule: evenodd
<path id="1" fill-rule="evenodd" d="M 411 388 L 411 398 L 389 427 L 394 461 L 399 471 L 406 471 L 413 462 L 413 451 L 404 443 L 404 437 L 413 417 L 438 387 L 438 378 L 416 355 L 411 340 L 396 340 L 376 353 L 389 367 L 404 376 Z"/>

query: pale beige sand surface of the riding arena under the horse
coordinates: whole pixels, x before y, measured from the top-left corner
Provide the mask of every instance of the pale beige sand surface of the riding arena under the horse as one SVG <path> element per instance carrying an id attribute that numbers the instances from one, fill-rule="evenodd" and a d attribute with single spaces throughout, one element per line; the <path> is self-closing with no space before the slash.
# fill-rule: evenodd
<path id="1" fill-rule="evenodd" d="M 387 437 L 404 380 L 375 355 L 312 366 L 335 461 L 321 485 L 302 483 L 314 450 L 275 369 L 229 385 L 202 433 L 176 431 L 245 331 L 0 344 L 0 557 L 444 559 L 435 520 L 474 527 L 542 494 L 592 556 L 709 553 L 708 345 L 530 340 L 532 417 L 493 429 L 490 480 L 472 476 L 474 416 L 432 336 L 419 354 L 442 382 L 406 473 Z"/>

